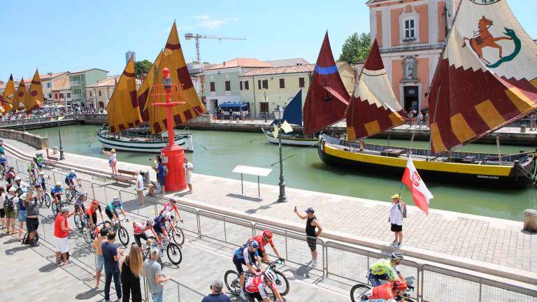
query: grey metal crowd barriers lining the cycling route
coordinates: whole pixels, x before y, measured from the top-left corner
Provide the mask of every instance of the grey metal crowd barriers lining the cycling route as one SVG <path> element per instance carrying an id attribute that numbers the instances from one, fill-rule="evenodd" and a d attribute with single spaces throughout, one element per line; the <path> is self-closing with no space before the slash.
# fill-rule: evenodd
<path id="1" fill-rule="evenodd" d="M 22 173 L 23 175 L 27 173 L 27 161 L 8 157 L 8 164 L 15 166 L 17 173 Z M 51 175 L 51 180 L 55 182 L 62 181 L 63 184 L 65 174 L 46 170 L 45 173 Z M 142 208 L 139 204 L 138 196 L 134 192 L 115 189 L 109 187 L 109 185 L 99 185 L 90 180 L 82 181 L 83 188 L 88 191 L 88 196 L 92 194 L 96 198 L 97 193 L 104 194 L 106 201 L 110 201 L 113 196 L 120 196 L 120 199 L 126 208 L 129 209 L 130 213 L 136 213 L 136 215 L 142 217 L 157 215 L 157 206 L 163 202 L 167 202 L 162 199 L 150 198 L 145 201 L 146 208 Z M 134 204 L 135 201 L 138 204 Z M 149 210 L 150 208 L 152 210 Z M 178 205 L 178 208 L 185 220 L 185 223 L 180 224 L 180 227 L 192 236 L 211 238 L 238 247 L 247 238 L 261 234 L 265 229 L 270 229 L 275 234 L 274 243 L 278 247 L 280 255 L 287 263 L 302 265 L 310 259 L 308 237 L 303 233 L 266 224 L 252 224 L 252 222 L 247 220 L 210 213 L 206 210 L 196 210 L 188 206 Z M 52 230 L 45 230 L 43 226 L 43 233 L 45 232 L 50 234 Z M 309 239 L 316 242 L 318 251 L 317 263 L 319 266 L 315 268 L 315 271 L 320 272 L 324 278 L 334 279 L 338 282 L 342 282 L 343 280 L 343 282 L 350 286 L 357 283 L 367 284 L 366 273 L 371 264 L 378 259 L 388 257 L 387 254 L 371 252 L 370 250 L 352 245 L 336 243 L 330 240 L 324 241 L 320 238 Z M 268 248 L 267 252 L 275 257 L 271 248 Z M 401 264 L 401 273 L 414 285 L 415 292 L 413 292 L 413 298 L 416 301 L 433 302 L 438 301 L 439 296 L 447 296 L 446 298 L 449 301 L 537 302 L 536 290 L 429 264 L 418 264 L 415 261 L 403 261 Z M 183 301 L 177 300 L 177 297 L 178 299 L 185 299 L 184 301 L 194 301 L 189 299 L 193 299 L 193 297 L 198 299 L 197 297 L 201 297 L 199 296 L 201 294 L 177 282 L 171 282 L 165 288 L 167 290 L 170 287 L 174 287 L 170 289 L 171 292 L 178 293 L 177 296 L 173 296 L 173 299 L 175 299 L 173 301 Z M 165 301 L 168 299 L 172 298 L 166 298 Z"/>

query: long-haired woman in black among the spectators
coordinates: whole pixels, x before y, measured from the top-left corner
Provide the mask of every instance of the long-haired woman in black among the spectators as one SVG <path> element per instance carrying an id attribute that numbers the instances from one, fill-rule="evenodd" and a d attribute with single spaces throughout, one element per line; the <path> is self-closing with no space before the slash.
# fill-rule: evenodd
<path id="1" fill-rule="evenodd" d="M 129 293 L 132 293 L 132 302 L 142 302 L 142 292 L 140 289 L 142 268 L 142 250 L 137 244 L 133 244 L 131 245 L 129 254 L 123 255 L 120 261 L 123 302 L 129 302 Z"/>

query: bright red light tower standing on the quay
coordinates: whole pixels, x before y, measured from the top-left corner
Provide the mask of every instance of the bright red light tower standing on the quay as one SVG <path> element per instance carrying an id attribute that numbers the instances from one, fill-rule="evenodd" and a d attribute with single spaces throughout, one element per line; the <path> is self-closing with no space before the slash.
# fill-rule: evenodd
<path id="1" fill-rule="evenodd" d="M 185 182 L 185 171 L 183 171 L 183 163 L 185 162 L 185 149 L 180 145 L 176 145 L 175 134 L 173 133 L 173 117 L 171 108 L 173 106 L 184 104 L 184 101 L 179 101 L 180 92 L 177 84 L 172 84 L 170 70 L 166 67 L 162 70 L 162 85 L 153 85 L 153 97 L 155 101 L 157 96 L 162 95 L 159 91 L 164 90 L 166 103 L 152 103 L 153 106 L 166 108 L 166 128 L 168 128 L 168 145 L 160 150 L 162 164 L 168 167 L 168 175 L 166 175 L 166 192 L 180 191 L 187 187 Z M 171 101 L 171 92 L 177 96 L 178 101 Z M 184 96 L 183 96 L 184 97 Z"/>

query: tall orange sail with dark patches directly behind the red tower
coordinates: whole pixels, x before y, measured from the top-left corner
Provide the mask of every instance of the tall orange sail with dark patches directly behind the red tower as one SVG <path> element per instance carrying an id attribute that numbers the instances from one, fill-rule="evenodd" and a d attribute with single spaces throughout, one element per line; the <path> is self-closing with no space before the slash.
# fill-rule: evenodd
<path id="1" fill-rule="evenodd" d="M 206 108 L 201 103 L 196 89 L 194 89 L 185 57 L 182 55 L 176 22 L 173 22 L 170 36 L 162 53 L 162 59 L 155 78 L 156 85 L 162 85 L 162 71 L 164 68 L 170 70 L 172 84 L 177 84 L 179 89 L 178 92 L 172 92 L 172 101 L 186 102 L 172 107 L 173 125 L 182 124 L 205 113 Z M 162 87 L 159 89 L 162 91 Z M 153 96 L 150 95 L 150 97 Z M 165 102 L 164 94 L 157 96 L 157 102 Z M 150 106 L 150 124 L 152 133 L 160 133 L 166 130 L 166 108 Z"/>

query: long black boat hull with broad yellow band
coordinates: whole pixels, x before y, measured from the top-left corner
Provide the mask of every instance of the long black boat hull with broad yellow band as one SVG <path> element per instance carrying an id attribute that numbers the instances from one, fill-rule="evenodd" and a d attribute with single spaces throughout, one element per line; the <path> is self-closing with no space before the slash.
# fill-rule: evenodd
<path id="1" fill-rule="evenodd" d="M 320 138 L 317 150 L 324 164 L 357 169 L 365 173 L 392 175 L 394 178 L 402 177 L 408 161 L 406 154 L 389 157 L 371 150 L 360 151 L 359 148 L 328 143 L 324 140 L 324 136 Z M 502 189 L 527 187 L 531 183 L 535 165 L 534 154 L 520 157 L 520 161 L 515 161 L 513 164 L 502 165 L 416 160 L 414 155 L 413 162 L 422 178 L 426 180 Z"/>

